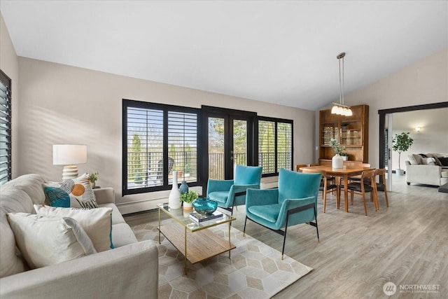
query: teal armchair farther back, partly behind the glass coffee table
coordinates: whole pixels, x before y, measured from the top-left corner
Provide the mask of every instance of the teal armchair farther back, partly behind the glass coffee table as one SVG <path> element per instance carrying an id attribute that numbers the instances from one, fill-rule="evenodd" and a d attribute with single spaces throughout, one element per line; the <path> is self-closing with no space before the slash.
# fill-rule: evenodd
<path id="1" fill-rule="evenodd" d="M 218 202 L 218 207 L 233 214 L 233 207 L 246 204 L 246 190 L 260 189 L 262 167 L 235 165 L 235 179 L 214 180 L 207 183 L 207 197 Z"/>

